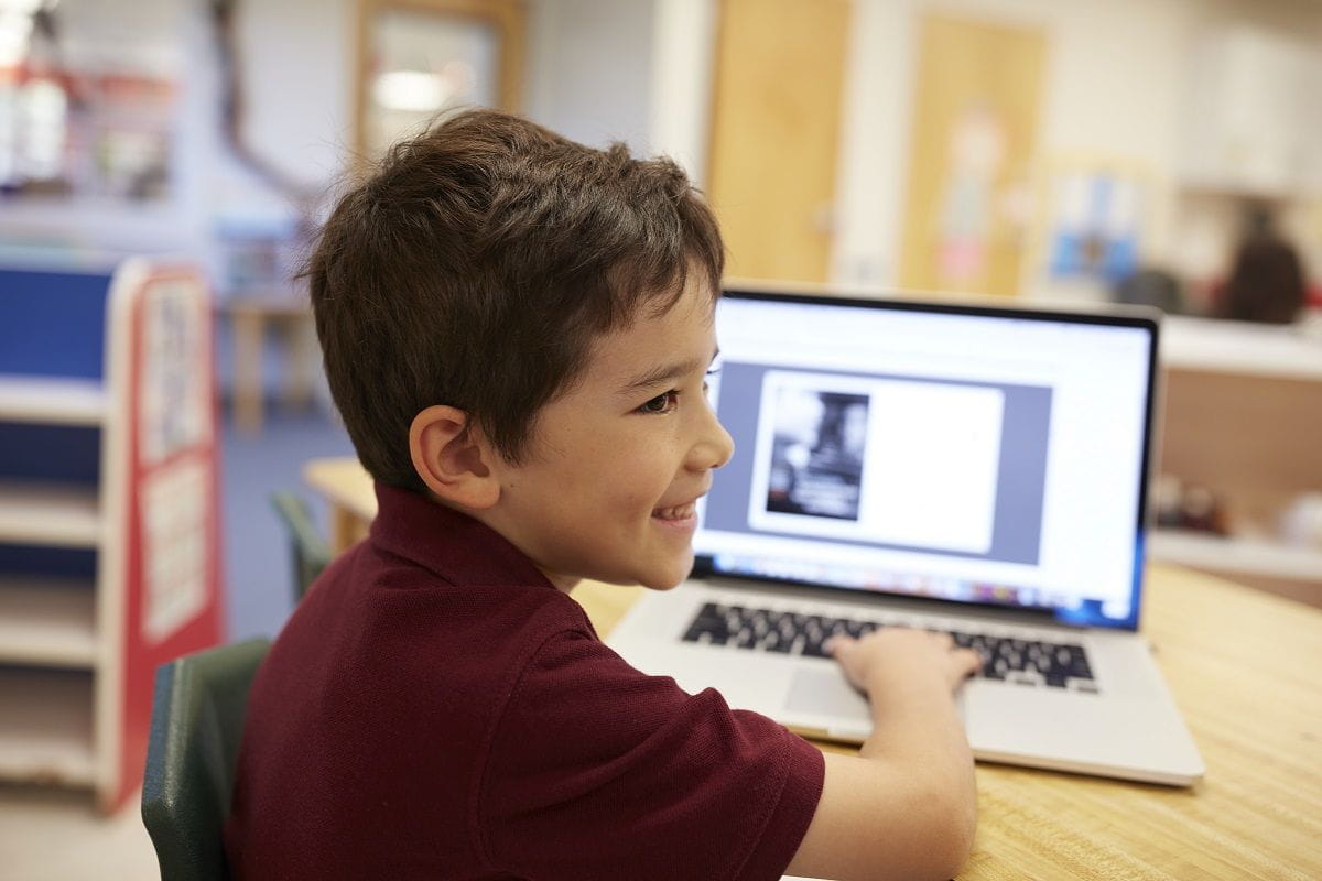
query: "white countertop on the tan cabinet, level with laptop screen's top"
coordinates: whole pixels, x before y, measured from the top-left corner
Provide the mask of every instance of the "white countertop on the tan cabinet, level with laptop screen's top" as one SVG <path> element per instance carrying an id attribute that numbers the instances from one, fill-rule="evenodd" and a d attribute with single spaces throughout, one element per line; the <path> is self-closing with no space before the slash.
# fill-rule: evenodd
<path id="1" fill-rule="evenodd" d="M 1285 326 L 1171 316 L 1162 321 L 1165 367 L 1322 382 L 1322 320 Z"/>

